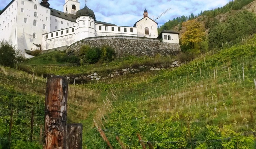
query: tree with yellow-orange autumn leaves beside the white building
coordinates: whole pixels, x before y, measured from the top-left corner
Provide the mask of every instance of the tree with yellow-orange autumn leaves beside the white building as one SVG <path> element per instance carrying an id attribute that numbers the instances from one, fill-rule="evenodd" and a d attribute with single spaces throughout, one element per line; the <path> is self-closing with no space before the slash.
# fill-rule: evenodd
<path id="1" fill-rule="evenodd" d="M 186 28 L 186 31 L 181 36 L 181 44 L 190 45 L 194 49 L 198 43 L 204 41 L 205 29 L 202 24 L 190 20 L 183 22 L 182 26 Z"/>

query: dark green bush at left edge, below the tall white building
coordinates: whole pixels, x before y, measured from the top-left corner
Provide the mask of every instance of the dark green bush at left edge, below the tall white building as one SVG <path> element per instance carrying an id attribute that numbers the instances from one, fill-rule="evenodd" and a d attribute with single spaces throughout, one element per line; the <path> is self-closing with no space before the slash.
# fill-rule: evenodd
<path id="1" fill-rule="evenodd" d="M 0 65 L 14 66 L 17 62 L 24 61 L 25 58 L 20 51 L 15 51 L 11 42 L 0 41 Z"/>

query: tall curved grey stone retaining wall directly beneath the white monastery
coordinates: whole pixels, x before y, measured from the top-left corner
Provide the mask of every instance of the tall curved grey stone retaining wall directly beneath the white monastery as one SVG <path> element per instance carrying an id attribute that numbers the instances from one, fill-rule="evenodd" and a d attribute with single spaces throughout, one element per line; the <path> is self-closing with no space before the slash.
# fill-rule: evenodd
<path id="1" fill-rule="evenodd" d="M 115 49 L 116 56 L 155 56 L 160 55 L 177 55 L 181 49 L 177 43 L 160 42 L 158 39 L 131 37 L 131 36 L 101 36 L 83 39 L 68 47 L 70 51 L 79 51 L 83 44 L 92 47 L 101 47 L 108 45 Z"/>

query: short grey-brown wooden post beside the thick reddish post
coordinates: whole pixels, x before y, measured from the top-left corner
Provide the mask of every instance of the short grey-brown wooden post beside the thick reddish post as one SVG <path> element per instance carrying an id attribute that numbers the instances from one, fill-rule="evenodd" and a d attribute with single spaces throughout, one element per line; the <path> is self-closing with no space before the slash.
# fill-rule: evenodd
<path id="1" fill-rule="evenodd" d="M 66 125 L 66 149 L 82 149 L 82 124 Z"/>

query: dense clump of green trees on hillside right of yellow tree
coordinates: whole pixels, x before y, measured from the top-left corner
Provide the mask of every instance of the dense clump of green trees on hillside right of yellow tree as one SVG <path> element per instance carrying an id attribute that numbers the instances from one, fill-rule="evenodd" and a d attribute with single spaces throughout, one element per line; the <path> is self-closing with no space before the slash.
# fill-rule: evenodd
<path id="1" fill-rule="evenodd" d="M 249 19 L 250 18 L 250 19 Z M 214 26 L 215 25 L 215 26 Z M 209 47 L 221 47 L 226 42 L 240 42 L 244 36 L 252 35 L 256 30 L 256 15 L 242 10 L 230 17 L 227 22 L 213 22 L 209 30 Z"/>

